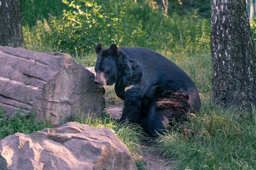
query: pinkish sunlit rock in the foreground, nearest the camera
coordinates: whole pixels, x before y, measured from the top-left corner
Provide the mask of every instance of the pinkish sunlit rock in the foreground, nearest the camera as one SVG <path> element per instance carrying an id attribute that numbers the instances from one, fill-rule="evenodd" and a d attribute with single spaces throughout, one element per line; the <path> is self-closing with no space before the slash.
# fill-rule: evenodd
<path id="1" fill-rule="evenodd" d="M 69 122 L 0 141 L 0 169 L 136 169 L 127 147 L 107 128 Z"/>

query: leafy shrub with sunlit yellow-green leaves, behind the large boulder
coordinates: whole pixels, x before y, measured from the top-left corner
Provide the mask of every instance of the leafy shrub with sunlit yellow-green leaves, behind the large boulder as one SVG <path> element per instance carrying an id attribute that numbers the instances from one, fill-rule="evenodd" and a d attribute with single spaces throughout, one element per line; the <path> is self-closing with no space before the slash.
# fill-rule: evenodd
<path id="1" fill-rule="evenodd" d="M 62 51 L 74 53 L 89 51 L 91 46 L 99 41 L 100 33 L 111 31 L 114 27 L 104 25 L 110 22 L 99 12 L 101 6 L 94 1 L 63 1 L 68 4 L 67 10 L 63 10 L 63 20 L 51 20 L 56 43 Z M 112 26 L 112 25 L 111 25 Z M 107 37 L 108 38 L 108 37 Z"/>

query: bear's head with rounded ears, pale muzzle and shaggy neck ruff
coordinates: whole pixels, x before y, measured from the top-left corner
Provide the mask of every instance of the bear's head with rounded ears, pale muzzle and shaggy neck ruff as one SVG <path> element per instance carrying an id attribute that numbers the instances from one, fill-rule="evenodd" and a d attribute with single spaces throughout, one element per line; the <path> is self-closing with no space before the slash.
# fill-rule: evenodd
<path id="1" fill-rule="evenodd" d="M 124 51 L 112 44 L 102 48 L 101 43 L 95 46 L 98 54 L 95 64 L 94 82 L 100 87 L 122 83 L 125 87 L 141 80 L 142 70 L 135 61 L 129 60 Z"/>

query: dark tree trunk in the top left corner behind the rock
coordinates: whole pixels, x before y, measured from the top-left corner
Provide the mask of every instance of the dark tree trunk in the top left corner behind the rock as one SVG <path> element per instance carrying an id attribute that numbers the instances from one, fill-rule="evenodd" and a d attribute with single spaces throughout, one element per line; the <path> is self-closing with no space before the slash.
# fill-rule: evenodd
<path id="1" fill-rule="evenodd" d="M 0 45 L 24 46 L 19 0 L 0 0 Z"/>

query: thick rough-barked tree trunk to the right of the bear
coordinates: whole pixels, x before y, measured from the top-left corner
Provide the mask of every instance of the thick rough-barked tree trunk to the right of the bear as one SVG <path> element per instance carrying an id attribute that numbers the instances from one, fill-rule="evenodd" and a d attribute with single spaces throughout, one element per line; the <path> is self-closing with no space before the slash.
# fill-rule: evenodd
<path id="1" fill-rule="evenodd" d="M 211 0 L 212 99 L 255 107 L 255 48 L 245 0 Z"/>

